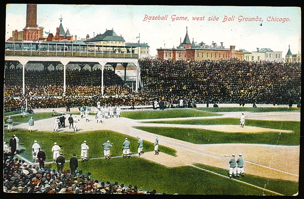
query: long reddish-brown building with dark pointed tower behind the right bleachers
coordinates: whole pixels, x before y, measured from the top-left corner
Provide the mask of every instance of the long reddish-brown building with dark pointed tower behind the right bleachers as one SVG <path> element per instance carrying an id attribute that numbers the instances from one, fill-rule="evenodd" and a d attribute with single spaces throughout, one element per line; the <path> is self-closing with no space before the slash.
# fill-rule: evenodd
<path id="1" fill-rule="evenodd" d="M 186 28 L 186 34 L 177 48 L 159 48 L 157 49 L 158 59 L 173 59 L 173 60 L 221 60 L 221 59 L 238 59 L 242 60 L 242 51 L 237 51 L 235 46 L 230 48 L 224 48 L 221 42 L 218 46 L 212 41 L 211 45 L 206 45 L 201 42 L 196 42 L 189 39 L 188 29 Z"/>

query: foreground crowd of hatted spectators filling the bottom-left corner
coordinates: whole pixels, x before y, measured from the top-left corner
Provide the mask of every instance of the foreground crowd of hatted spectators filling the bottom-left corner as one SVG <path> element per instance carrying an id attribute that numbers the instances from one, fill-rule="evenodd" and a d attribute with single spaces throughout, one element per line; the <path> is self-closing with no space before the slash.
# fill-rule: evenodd
<path id="1" fill-rule="evenodd" d="M 39 168 L 24 160 L 5 156 L 3 185 L 6 193 L 74 193 L 74 194 L 160 194 L 155 189 L 145 191 L 137 186 L 91 179 L 91 173 L 78 171 L 62 174 L 50 168 Z M 162 193 L 164 194 L 164 193 Z"/>

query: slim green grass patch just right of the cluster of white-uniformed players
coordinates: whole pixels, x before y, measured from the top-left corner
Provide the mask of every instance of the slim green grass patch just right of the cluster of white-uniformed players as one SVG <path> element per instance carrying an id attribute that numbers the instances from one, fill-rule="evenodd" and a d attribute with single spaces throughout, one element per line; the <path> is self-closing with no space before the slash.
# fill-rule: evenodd
<path id="1" fill-rule="evenodd" d="M 206 111 L 199 111 L 188 108 L 176 108 L 165 110 L 137 110 L 137 111 L 122 111 L 121 115 L 133 120 L 157 119 L 157 118 L 176 118 L 176 117 L 206 117 L 220 115 Z"/>

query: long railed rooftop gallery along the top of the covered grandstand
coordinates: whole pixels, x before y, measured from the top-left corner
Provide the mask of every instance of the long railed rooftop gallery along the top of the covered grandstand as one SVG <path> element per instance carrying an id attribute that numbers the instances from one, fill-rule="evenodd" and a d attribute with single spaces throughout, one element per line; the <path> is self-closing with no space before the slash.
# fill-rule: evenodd
<path id="1" fill-rule="evenodd" d="M 138 58 L 137 47 L 66 43 L 6 42 L 6 56 Z"/>

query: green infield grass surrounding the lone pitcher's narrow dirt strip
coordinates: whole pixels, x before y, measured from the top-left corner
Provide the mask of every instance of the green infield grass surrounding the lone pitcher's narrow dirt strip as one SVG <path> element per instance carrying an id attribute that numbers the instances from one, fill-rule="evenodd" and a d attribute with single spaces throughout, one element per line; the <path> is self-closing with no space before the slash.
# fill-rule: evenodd
<path id="1" fill-rule="evenodd" d="M 183 124 L 183 125 L 239 125 L 237 118 L 214 118 L 203 120 L 164 121 L 157 123 Z M 263 127 L 270 129 L 291 130 L 294 133 L 226 133 L 204 129 L 165 128 L 165 127 L 136 127 L 137 129 L 183 140 L 195 144 L 217 143 L 250 143 L 250 144 L 279 144 L 299 145 L 300 122 L 289 121 L 259 121 L 246 120 L 246 126 Z"/>

